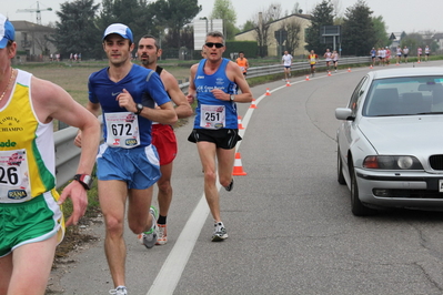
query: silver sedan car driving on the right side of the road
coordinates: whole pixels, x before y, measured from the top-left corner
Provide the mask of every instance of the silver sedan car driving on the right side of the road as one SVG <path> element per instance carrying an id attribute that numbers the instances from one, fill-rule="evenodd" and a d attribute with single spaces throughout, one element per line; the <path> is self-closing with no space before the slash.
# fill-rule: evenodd
<path id="1" fill-rule="evenodd" d="M 354 215 L 443 210 L 443 68 L 372 71 L 335 118 L 338 181 Z"/>

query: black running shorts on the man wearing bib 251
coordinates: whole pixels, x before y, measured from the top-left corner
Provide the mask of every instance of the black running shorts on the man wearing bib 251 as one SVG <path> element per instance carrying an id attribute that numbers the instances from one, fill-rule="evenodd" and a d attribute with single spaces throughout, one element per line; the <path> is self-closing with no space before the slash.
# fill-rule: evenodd
<path id="1" fill-rule="evenodd" d="M 213 142 L 217 148 L 231 150 L 235 148 L 236 142 L 241 141 L 238 129 L 194 129 L 189 135 L 188 141 L 197 143 L 200 141 Z"/>

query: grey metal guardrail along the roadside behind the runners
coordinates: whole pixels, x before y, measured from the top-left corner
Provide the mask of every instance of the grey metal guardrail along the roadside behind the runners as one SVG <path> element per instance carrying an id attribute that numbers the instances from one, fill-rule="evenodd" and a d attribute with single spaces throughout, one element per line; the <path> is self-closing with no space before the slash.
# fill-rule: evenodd
<path id="1" fill-rule="evenodd" d="M 356 57 L 356 58 L 343 58 L 339 60 L 339 64 L 359 64 L 370 63 L 371 57 Z M 325 68 L 326 62 L 321 60 L 318 62 L 316 68 Z M 294 62 L 291 65 L 292 72 L 309 71 L 310 65 L 306 62 Z M 248 79 L 269 75 L 269 74 L 281 74 L 283 69 L 281 64 L 272 64 L 264 67 L 253 67 L 248 70 Z M 189 82 L 181 83 L 180 89 L 183 93 L 188 93 Z M 101 119 L 101 116 L 100 116 Z M 81 150 L 73 144 L 73 140 L 77 135 L 75 128 L 66 128 L 54 133 L 56 144 L 56 173 L 57 173 L 57 187 L 60 189 L 68 181 L 72 180 L 75 174 L 77 165 L 80 160 Z"/>

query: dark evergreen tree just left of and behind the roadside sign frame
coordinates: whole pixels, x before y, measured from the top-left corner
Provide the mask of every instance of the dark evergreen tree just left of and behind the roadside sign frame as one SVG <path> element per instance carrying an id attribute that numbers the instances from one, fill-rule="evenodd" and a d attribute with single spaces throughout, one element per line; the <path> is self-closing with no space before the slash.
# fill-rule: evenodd
<path id="1" fill-rule="evenodd" d="M 304 48 L 308 51 L 324 52 L 326 50 L 328 44 L 320 42 L 320 33 L 323 26 L 333 26 L 333 11 L 332 3 L 326 0 L 323 0 L 323 2 L 314 8 L 311 17 L 311 27 L 308 28 L 308 35 L 305 37 L 306 45 Z"/>

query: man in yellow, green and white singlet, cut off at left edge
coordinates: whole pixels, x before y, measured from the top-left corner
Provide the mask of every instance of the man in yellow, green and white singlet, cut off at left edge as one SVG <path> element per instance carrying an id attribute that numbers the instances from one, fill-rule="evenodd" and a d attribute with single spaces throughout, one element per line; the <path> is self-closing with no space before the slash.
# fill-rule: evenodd
<path id="1" fill-rule="evenodd" d="M 100 124 L 60 87 L 11 68 L 14 34 L 12 23 L 0 14 L 0 294 L 43 295 L 64 234 L 60 204 L 72 200 L 66 225 L 77 224 L 87 210 Z M 88 142 L 78 181 L 60 196 L 53 119 L 82 130 Z"/>

